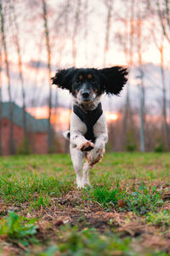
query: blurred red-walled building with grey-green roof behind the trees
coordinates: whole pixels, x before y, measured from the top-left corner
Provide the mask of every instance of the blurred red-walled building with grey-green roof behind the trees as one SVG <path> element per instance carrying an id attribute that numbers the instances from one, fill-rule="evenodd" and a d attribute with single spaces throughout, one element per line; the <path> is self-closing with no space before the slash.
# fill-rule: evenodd
<path id="1" fill-rule="evenodd" d="M 1 104 L 0 140 L 1 154 L 10 154 L 10 121 L 9 121 L 9 102 Z M 25 137 L 23 130 L 23 109 L 13 103 L 14 111 L 14 148 L 15 152 L 22 152 Z M 35 119 L 30 113 L 26 112 L 26 131 L 28 138 L 28 148 L 33 154 L 48 153 L 48 119 Z"/>

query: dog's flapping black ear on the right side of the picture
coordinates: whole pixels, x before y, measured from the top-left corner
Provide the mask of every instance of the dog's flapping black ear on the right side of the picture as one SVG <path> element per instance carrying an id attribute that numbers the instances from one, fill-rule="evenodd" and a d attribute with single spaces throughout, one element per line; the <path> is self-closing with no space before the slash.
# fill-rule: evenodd
<path id="1" fill-rule="evenodd" d="M 108 67 L 99 69 L 99 73 L 103 82 L 103 90 L 107 94 L 118 95 L 127 83 L 127 68 Z"/>

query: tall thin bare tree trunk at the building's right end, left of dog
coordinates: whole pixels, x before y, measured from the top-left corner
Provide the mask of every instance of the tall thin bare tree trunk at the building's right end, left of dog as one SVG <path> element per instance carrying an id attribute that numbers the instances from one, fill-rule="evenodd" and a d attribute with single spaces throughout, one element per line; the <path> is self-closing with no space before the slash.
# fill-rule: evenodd
<path id="1" fill-rule="evenodd" d="M 49 31 L 48 31 L 48 14 L 46 0 L 42 0 L 42 18 L 44 22 L 44 32 L 46 38 L 46 47 L 48 53 L 48 81 L 51 80 L 51 48 L 49 43 Z M 49 85 L 49 97 L 48 97 L 48 152 L 52 147 L 52 130 L 51 130 L 51 109 L 52 109 L 52 88 Z"/>

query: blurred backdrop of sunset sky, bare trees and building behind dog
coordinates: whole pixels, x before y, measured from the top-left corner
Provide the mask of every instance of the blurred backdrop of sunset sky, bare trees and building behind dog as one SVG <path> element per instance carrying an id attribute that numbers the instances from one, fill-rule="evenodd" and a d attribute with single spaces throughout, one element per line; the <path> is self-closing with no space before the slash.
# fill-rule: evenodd
<path id="1" fill-rule="evenodd" d="M 170 0 L 0 0 L 0 154 L 68 152 L 59 68 L 129 68 L 103 96 L 108 151 L 170 150 Z"/>

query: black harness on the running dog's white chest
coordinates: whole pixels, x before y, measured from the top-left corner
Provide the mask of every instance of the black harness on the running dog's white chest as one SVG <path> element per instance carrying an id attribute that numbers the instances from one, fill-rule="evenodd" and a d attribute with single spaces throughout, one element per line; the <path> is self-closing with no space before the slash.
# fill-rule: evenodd
<path id="1" fill-rule="evenodd" d="M 103 113 L 101 103 L 99 103 L 98 107 L 94 110 L 85 110 L 78 107 L 77 105 L 74 105 L 73 112 L 76 113 L 77 116 L 82 120 L 82 122 L 87 126 L 87 132 L 84 137 L 94 143 L 96 139 L 94 137 L 94 125 Z"/>

